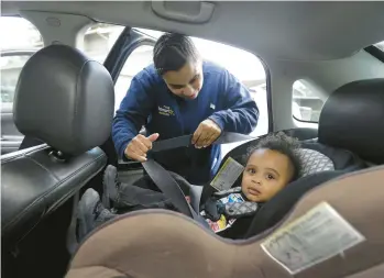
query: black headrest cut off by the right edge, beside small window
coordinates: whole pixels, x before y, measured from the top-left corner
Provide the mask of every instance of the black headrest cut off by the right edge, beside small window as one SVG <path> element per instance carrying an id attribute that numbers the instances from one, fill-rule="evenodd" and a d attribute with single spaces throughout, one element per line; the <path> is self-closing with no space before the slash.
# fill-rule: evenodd
<path id="1" fill-rule="evenodd" d="M 319 119 L 319 142 L 384 163 L 384 78 L 354 81 L 336 90 Z"/>

